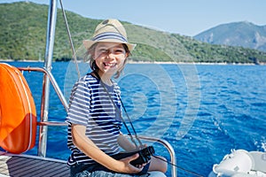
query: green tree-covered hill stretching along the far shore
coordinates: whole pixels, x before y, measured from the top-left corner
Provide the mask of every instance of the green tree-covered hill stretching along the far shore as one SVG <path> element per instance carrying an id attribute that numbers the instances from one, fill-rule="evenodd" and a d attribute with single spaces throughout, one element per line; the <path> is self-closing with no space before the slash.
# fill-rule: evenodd
<path id="1" fill-rule="evenodd" d="M 37 60 L 45 51 L 48 6 L 34 3 L 0 4 L 0 58 Z M 101 20 L 83 18 L 66 12 L 70 32 L 77 50 L 83 39 L 89 39 Z M 122 22 L 129 42 L 137 43 L 133 61 L 162 62 L 266 62 L 266 53 L 259 50 L 213 45 L 192 37 L 165 33 L 147 27 Z M 61 10 L 55 35 L 53 58 L 72 58 Z"/>

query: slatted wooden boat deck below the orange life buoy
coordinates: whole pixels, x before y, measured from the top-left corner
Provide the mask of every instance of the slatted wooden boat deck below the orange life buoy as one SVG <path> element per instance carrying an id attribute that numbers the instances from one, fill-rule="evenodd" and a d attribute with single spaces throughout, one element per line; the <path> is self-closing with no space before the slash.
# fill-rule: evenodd
<path id="1" fill-rule="evenodd" d="M 70 176 L 63 160 L 0 153 L 0 177 Z"/>

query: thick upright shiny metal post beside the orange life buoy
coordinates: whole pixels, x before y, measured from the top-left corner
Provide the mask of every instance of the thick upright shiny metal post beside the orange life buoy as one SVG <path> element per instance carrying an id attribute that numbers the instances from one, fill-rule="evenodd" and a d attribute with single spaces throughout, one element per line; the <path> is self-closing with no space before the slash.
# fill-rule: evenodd
<path id="1" fill-rule="evenodd" d="M 58 0 L 51 0 L 48 12 L 46 48 L 44 57 L 44 68 L 51 72 L 52 53 L 54 45 L 55 27 L 57 19 Z M 47 74 L 43 75 L 43 96 L 41 104 L 41 121 L 48 121 L 49 112 L 50 81 Z M 39 130 L 38 156 L 46 156 L 48 127 L 41 126 Z"/>

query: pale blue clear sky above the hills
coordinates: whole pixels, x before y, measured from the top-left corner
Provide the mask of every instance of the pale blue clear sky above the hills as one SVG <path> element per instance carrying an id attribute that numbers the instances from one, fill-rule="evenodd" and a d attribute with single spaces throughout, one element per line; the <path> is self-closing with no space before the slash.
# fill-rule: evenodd
<path id="1" fill-rule="evenodd" d="M 21 0 L 0 0 L 0 3 L 18 1 Z M 30 2 L 49 4 L 50 0 Z M 62 4 L 65 10 L 83 17 L 120 19 L 188 36 L 231 22 L 266 25 L 266 0 L 62 0 Z"/>

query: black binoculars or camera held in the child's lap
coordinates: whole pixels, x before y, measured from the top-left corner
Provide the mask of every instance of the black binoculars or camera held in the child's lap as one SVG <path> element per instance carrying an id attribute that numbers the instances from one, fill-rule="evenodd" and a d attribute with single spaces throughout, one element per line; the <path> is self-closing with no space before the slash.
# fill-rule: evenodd
<path id="1" fill-rule="evenodd" d="M 134 154 L 138 153 L 138 158 L 131 161 L 131 165 L 142 165 L 145 163 L 148 163 L 149 160 L 151 159 L 151 156 L 155 153 L 155 150 L 153 146 L 148 146 L 145 147 L 144 149 L 141 150 L 135 150 L 135 151 L 130 151 L 130 152 L 121 152 L 120 153 L 120 159 L 121 158 L 128 158 L 130 156 L 133 156 Z"/>

